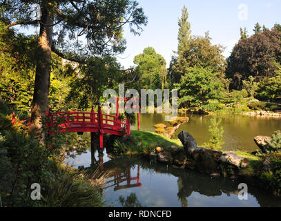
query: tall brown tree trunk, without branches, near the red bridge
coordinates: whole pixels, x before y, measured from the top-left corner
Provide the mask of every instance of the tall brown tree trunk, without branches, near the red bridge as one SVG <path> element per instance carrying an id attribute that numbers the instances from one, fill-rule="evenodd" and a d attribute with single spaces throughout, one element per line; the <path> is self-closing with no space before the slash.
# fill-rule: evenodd
<path id="1" fill-rule="evenodd" d="M 53 19 L 46 6 L 41 6 L 41 23 L 37 48 L 37 66 L 35 74 L 35 87 L 31 109 L 30 129 L 39 133 L 41 117 L 46 116 L 48 96 L 50 89 L 50 59 L 52 46 Z"/>

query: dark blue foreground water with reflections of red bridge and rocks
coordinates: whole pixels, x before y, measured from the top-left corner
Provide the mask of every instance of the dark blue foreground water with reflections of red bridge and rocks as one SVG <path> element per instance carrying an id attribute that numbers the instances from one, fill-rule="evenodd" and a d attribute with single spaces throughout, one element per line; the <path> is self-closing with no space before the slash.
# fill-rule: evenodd
<path id="1" fill-rule="evenodd" d="M 280 198 L 251 186 L 248 200 L 239 200 L 236 180 L 155 164 L 138 157 L 110 159 L 106 154 L 95 153 L 91 163 L 87 170 L 108 173 L 104 189 L 108 206 L 281 206 Z"/>

